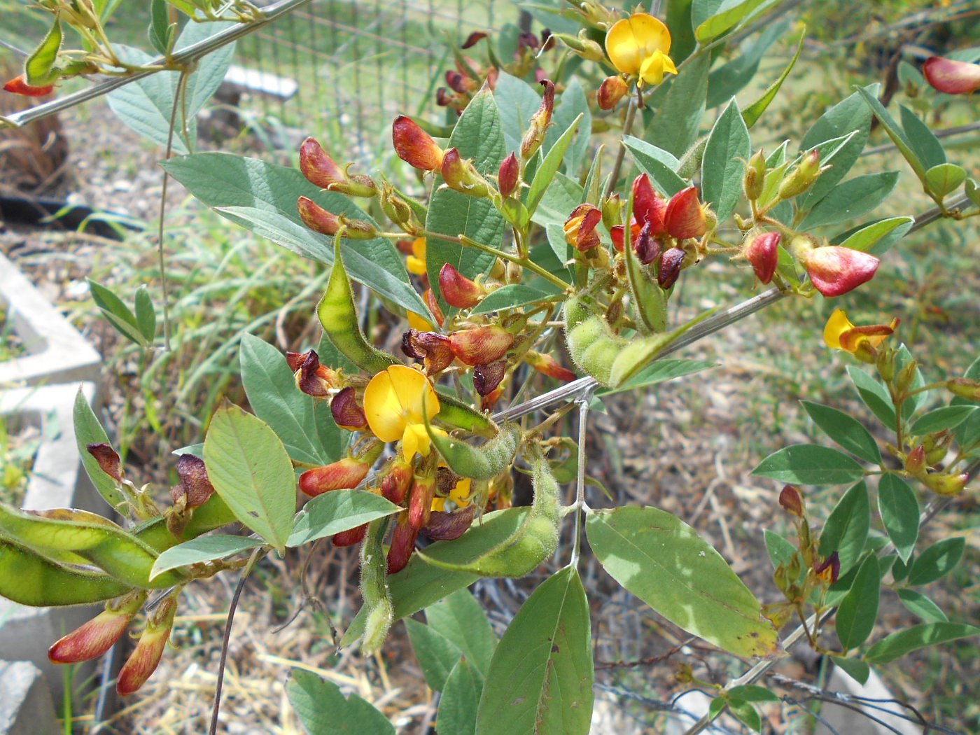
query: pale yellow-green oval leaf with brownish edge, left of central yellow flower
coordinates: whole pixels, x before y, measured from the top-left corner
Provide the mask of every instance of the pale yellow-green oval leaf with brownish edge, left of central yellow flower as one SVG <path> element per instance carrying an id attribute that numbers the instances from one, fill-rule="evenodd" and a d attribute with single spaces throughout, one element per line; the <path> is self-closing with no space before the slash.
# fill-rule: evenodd
<path id="1" fill-rule="evenodd" d="M 269 424 L 237 406 L 221 406 L 204 440 L 204 462 L 235 517 L 282 553 L 293 527 L 296 479 Z"/>

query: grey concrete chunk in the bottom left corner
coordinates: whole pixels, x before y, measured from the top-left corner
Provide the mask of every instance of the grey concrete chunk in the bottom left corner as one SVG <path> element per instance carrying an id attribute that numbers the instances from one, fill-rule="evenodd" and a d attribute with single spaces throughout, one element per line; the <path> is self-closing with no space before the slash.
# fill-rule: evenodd
<path id="1" fill-rule="evenodd" d="M 37 666 L 0 661 L 0 735 L 58 735 L 51 692 Z"/>

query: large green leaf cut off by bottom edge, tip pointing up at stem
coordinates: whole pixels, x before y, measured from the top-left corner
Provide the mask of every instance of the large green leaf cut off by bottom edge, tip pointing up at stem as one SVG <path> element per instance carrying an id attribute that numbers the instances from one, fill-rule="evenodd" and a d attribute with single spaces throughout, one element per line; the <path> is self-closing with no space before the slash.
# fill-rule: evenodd
<path id="1" fill-rule="evenodd" d="M 494 652 L 477 735 L 587 735 L 594 695 L 589 606 L 566 566 L 521 606 Z"/>

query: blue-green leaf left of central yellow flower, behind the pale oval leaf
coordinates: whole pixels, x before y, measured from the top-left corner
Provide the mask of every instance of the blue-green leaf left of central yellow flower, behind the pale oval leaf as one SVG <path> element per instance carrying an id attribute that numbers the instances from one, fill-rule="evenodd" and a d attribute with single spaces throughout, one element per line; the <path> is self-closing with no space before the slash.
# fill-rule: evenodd
<path id="1" fill-rule="evenodd" d="M 278 350 L 243 334 L 238 359 L 249 406 L 270 425 L 292 459 L 315 466 L 340 459 L 346 437 L 333 422 L 329 405 L 296 387 L 293 371 Z"/>

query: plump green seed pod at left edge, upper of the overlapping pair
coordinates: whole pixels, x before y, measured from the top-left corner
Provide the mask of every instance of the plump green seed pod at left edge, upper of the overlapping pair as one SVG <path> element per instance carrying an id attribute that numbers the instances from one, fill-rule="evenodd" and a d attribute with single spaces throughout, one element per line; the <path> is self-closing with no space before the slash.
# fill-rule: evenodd
<path id="1" fill-rule="evenodd" d="M 187 575 L 179 569 L 164 572 L 151 581 L 150 569 L 157 560 L 157 552 L 114 525 L 105 518 L 102 522 L 86 522 L 0 506 L 0 533 L 41 556 L 50 559 L 49 553 L 55 558 L 65 553 L 76 554 L 87 564 L 95 564 L 121 582 L 141 589 L 164 589 L 187 581 Z"/>

